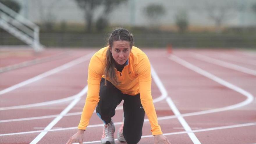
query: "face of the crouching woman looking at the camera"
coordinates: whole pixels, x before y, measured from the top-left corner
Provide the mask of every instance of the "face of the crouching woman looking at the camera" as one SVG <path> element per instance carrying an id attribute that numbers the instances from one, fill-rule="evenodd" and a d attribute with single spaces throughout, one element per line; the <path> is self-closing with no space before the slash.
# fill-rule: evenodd
<path id="1" fill-rule="evenodd" d="M 123 65 L 129 58 L 131 46 L 130 42 L 125 40 L 118 40 L 113 42 L 113 46 L 110 48 L 114 60 Z"/>

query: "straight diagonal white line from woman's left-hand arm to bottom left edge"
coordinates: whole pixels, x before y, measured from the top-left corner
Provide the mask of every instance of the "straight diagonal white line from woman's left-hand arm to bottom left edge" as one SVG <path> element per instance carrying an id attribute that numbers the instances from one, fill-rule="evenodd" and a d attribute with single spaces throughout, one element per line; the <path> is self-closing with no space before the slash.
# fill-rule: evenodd
<path id="1" fill-rule="evenodd" d="M 54 120 L 52 120 L 47 127 L 45 127 L 44 132 L 41 132 L 38 136 L 35 137 L 35 139 L 33 141 L 31 141 L 30 144 L 36 144 L 38 143 L 46 134 L 47 131 L 50 130 L 52 127 L 54 127 L 54 125 L 56 125 L 56 123 L 58 121 L 61 120 L 61 118 L 63 118 L 62 115 L 67 114 L 81 99 L 81 97 L 87 92 L 88 90 L 88 86 L 86 86 L 85 88 L 83 88 L 83 90 L 77 94 L 76 99 L 74 99 L 61 113 L 59 116 L 57 116 Z"/>

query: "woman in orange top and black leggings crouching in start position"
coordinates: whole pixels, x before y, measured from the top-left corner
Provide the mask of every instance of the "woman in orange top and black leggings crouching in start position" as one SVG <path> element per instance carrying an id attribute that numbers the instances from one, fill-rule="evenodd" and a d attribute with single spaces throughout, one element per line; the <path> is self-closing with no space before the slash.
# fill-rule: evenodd
<path id="1" fill-rule="evenodd" d="M 78 131 L 66 144 L 82 144 L 83 133 L 96 107 L 104 122 L 101 144 L 114 144 L 115 126 L 112 117 L 122 100 L 124 119 L 118 130 L 118 141 L 136 144 L 142 136 L 145 113 L 150 121 L 154 144 L 170 144 L 163 136 L 151 96 L 150 62 L 137 47 L 126 29 L 115 29 L 109 46 L 97 51 L 88 68 L 88 93 Z"/>

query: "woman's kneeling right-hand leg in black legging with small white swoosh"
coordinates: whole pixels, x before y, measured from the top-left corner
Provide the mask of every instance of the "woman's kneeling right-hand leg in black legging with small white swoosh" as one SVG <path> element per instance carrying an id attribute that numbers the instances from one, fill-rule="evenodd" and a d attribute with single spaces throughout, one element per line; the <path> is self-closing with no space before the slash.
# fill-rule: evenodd
<path id="1" fill-rule="evenodd" d="M 136 144 L 141 139 L 145 117 L 140 95 L 125 95 L 123 106 L 125 116 L 123 135 L 128 144 Z"/>

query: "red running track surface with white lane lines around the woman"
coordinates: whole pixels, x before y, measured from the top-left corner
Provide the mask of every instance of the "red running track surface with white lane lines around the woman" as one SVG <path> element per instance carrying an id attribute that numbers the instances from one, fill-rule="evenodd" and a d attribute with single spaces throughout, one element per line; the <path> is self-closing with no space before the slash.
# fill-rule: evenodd
<path id="1" fill-rule="evenodd" d="M 24 61 L 30 62 L 35 59 L 38 61 L 0 74 L 0 143 L 30 143 L 35 138 L 38 139 L 38 135 L 52 121 L 56 121 L 56 124 L 38 139 L 38 143 L 65 143 L 77 131 L 76 127 L 80 120 L 86 93 L 71 109 L 66 111 L 67 114 L 64 113 L 65 115 L 60 117 L 60 113 L 74 100 L 64 98 L 78 94 L 86 86 L 89 58 L 93 51 L 97 49 L 47 49 L 40 54 L 35 54 L 33 51 L 1 51 L 1 68 L 19 65 Z M 184 118 L 192 130 L 185 130 L 182 126 L 184 123 L 175 116 L 175 110 L 170 107 L 170 102 L 165 97 L 156 102 L 154 105 L 159 124 L 172 144 L 256 143 L 256 74 L 247 73 L 247 71 L 256 72 L 255 51 L 236 49 L 177 49 L 173 51 L 173 55 L 192 64 L 193 68 L 186 67 L 186 64 L 176 57 L 170 57 L 165 49 L 143 49 L 143 51 L 149 57 L 160 80 L 160 83 L 152 80 L 153 99 L 161 95 L 166 96 L 167 99 L 170 97 L 182 114 L 180 118 Z M 207 58 L 214 58 L 214 60 L 211 59 L 210 62 L 202 60 L 194 52 L 207 56 Z M 88 54 L 89 58 L 84 58 L 84 61 L 36 81 L 19 85 L 23 81 Z M 234 66 L 236 68 L 240 66 L 240 70 L 225 67 L 217 62 L 213 63 L 215 59 L 219 60 L 218 62 L 229 63 L 228 65 L 236 65 Z M 218 80 L 214 81 L 196 72 L 200 71 L 198 68 L 204 70 L 202 73 L 209 72 L 214 75 L 209 77 L 217 77 Z M 156 76 L 152 75 L 153 77 Z M 233 89 L 228 88 L 227 83 L 232 84 Z M 18 87 L 6 91 L 14 85 Z M 167 95 L 163 91 L 166 91 Z M 54 104 L 47 103 L 60 99 L 64 100 Z M 40 106 L 37 106 L 39 104 Z M 57 116 L 58 120 L 55 119 Z M 169 117 L 164 118 L 165 116 Z M 121 122 L 121 108 L 116 110 L 113 120 Z M 97 126 L 98 124 L 102 124 L 102 121 L 94 114 L 85 132 L 84 143 L 99 143 L 102 126 Z M 120 124 L 115 126 L 118 129 Z M 194 134 L 194 136 L 189 137 L 187 133 Z M 143 126 L 143 136 L 146 137 L 143 137 L 139 144 L 153 143 L 153 137 L 147 137 L 150 135 L 150 124 L 146 121 Z"/>

